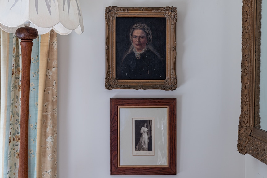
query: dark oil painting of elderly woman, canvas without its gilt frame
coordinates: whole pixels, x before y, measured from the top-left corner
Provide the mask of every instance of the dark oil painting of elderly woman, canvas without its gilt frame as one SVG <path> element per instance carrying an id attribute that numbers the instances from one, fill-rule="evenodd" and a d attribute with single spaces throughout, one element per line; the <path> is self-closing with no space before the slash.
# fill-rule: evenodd
<path id="1" fill-rule="evenodd" d="M 166 79 L 166 18 L 116 18 L 116 79 Z"/>

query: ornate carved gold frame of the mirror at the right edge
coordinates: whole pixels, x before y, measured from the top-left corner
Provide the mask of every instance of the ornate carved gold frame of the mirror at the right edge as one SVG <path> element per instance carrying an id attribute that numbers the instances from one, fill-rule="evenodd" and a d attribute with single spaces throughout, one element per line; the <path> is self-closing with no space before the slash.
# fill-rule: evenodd
<path id="1" fill-rule="evenodd" d="M 260 129 L 261 0 L 243 0 L 241 115 L 238 151 L 267 164 L 267 132 Z"/>

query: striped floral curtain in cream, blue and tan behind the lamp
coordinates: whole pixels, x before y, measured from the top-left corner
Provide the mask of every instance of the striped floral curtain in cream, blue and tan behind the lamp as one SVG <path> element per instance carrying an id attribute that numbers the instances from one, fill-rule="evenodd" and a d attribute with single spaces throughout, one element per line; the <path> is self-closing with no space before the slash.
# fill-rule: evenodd
<path id="1" fill-rule="evenodd" d="M 20 152 L 21 48 L 0 32 L 0 177 L 17 178 Z M 30 77 L 29 178 L 57 177 L 57 34 L 33 40 Z"/>

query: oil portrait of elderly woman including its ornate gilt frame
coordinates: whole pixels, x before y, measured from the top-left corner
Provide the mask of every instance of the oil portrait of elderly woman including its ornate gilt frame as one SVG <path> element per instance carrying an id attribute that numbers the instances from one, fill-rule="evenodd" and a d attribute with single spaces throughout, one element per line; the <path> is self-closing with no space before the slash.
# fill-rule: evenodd
<path id="1" fill-rule="evenodd" d="M 106 89 L 177 88 L 176 7 L 106 7 Z"/>

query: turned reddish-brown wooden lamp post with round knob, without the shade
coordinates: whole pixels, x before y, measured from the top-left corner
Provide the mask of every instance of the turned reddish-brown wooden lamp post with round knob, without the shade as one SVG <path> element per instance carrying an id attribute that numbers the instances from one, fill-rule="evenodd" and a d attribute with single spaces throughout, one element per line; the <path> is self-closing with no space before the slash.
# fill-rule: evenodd
<path id="1" fill-rule="evenodd" d="M 21 27 L 16 30 L 21 39 L 21 109 L 20 109 L 20 154 L 18 178 L 28 178 L 28 135 L 29 135 L 29 98 L 30 69 L 33 39 L 38 31 L 32 27 Z"/>

